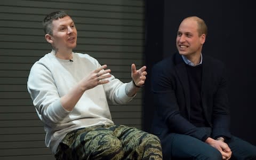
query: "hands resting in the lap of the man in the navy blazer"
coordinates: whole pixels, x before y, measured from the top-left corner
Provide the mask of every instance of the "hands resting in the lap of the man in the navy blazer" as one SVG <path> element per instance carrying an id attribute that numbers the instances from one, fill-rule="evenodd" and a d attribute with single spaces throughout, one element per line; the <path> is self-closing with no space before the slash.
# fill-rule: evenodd
<path id="1" fill-rule="evenodd" d="M 205 143 L 218 149 L 222 155 L 222 159 L 227 159 L 227 160 L 230 159 L 232 152 L 231 152 L 230 148 L 228 147 L 227 143 L 225 143 L 223 141 L 219 141 L 219 140 L 214 140 L 210 137 L 205 140 Z"/>

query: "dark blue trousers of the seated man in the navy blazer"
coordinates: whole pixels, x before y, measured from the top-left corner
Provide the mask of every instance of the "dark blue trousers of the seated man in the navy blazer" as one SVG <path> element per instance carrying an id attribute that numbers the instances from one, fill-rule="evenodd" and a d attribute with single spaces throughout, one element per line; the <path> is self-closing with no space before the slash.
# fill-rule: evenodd
<path id="1" fill-rule="evenodd" d="M 232 160 L 256 159 L 256 147 L 237 137 L 227 142 Z M 171 133 L 162 141 L 163 159 L 222 159 L 220 152 L 189 135 Z"/>

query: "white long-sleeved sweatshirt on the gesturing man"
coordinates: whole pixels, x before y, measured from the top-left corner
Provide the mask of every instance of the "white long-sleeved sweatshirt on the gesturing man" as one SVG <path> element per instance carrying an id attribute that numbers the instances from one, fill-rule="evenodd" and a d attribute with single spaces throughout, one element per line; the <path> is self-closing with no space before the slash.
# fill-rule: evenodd
<path id="1" fill-rule="evenodd" d="M 107 100 L 123 104 L 132 98 L 125 94 L 125 85 L 113 75 L 110 82 L 86 90 L 72 111 L 64 109 L 60 97 L 101 65 L 88 54 L 72 53 L 73 62 L 47 53 L 31 67 L 27 87 L 44 123 L 45 144 L 55 154 L 65 135 L 81 127 L 114 124 Z"/>

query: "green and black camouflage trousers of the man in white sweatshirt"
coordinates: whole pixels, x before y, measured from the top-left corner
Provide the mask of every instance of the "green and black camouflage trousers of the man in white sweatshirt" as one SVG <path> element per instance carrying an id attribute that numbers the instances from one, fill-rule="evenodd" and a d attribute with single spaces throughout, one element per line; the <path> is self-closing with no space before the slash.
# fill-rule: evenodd
<path id="1" fill-rule="evenodd" d="M 72 131 L 58 146 L 56 159 L 162 159 L 160 140 L 124 125 Z"/>

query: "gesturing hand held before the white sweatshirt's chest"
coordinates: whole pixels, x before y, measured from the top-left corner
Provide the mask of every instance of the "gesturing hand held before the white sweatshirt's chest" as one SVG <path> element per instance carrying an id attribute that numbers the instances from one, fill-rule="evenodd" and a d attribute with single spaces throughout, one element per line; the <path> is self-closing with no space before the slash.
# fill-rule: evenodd
<path id="1" fill-rule="evenodd" d="M 86 90 L 92 89 L 93 87 L 100 85 L 100 84 L 105 84 L 108 83 L 109 81 L 106 78 L 111 77 L 110 74 L 110 69 L 106 69 L 107 65 L 103 65 L 94 71 L 92 71 L 87 77 L 85 77 L 82 81 L 82 83 L 85 86 Z"/>

